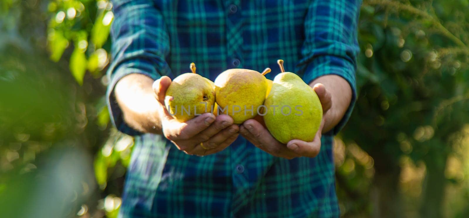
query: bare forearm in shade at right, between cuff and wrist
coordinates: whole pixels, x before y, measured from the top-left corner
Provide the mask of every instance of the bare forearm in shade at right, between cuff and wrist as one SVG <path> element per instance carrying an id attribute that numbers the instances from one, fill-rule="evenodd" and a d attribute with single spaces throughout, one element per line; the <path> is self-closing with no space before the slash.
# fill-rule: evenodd
<path id="1" fill-rule="evenodd" d="M 327 91 L 332 95 L 332 107 L 327 111 L 325 124 L 322 132 L 328 132 L 336 126 L 347 112 L 352 99 L 352 88 L 347 80 L 338 75 L 325 75 L 312 81 L 310 86 L 322 83 Z"/>

